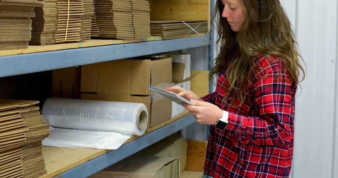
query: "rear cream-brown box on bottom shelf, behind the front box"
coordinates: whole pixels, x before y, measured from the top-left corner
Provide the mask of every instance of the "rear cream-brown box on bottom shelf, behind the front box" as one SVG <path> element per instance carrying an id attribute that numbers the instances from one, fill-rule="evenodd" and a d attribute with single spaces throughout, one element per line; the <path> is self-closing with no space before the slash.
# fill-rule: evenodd
<path id="1" fill-rule="evenodd" d="M 173 134 L 148 146 L 136 154 L 177 157 L 180 164 L 180 172 L 183 172 L 187 165 L 187 140 L 182 136 Z"/>

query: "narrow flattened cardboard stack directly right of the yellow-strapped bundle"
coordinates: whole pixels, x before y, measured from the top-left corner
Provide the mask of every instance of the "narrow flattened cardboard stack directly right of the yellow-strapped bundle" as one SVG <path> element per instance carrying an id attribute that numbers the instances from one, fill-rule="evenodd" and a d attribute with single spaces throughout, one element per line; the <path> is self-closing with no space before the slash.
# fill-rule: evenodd
<path id="1" fill-rule="evenodd" d="M 92 29 L 92 16 L 94 15 L 94 0 L 83 0 L 83 16 L 81 18 L 80 39 L 89 40 Z"/>

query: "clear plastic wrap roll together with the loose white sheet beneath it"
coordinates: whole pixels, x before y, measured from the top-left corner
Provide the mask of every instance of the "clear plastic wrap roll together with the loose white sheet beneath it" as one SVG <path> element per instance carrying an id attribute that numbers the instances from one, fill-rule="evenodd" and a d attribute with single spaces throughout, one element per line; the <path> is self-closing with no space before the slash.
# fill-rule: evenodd
<path id="1" fill-rule="evenodd" d="M 143 103 L 49 98 L 42 115 L 51 125 L 45 146 L 116 149 L 148 125 Z"/>

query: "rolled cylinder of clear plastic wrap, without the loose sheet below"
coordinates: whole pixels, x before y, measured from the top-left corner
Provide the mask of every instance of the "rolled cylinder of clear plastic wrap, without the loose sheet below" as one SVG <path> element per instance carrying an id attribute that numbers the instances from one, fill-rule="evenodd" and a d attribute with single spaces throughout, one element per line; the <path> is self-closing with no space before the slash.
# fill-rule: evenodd
<path id="1" fill-rule="evenodd" d="M 143 103 L 49 98 L 42 108 L 53 127 L 142 135 L 148 124 Z"/>

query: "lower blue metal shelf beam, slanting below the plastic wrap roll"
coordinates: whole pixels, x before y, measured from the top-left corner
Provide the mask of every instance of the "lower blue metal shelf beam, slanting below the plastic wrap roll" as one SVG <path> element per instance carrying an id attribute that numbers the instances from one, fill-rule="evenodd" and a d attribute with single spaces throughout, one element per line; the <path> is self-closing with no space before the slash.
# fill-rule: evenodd
<path id="1" fill-rule="evenodd" d="M 120 148 L 105 153 L 97 158 L 94 158 L 82 165 L 79 165 L 73 169 L 70 169 L 62 174 L 55 176 L 55 178 L 61 177 L 87 177 L 94 173 L 115 164 L 116 162 L 132 155 L 151 144 L 154 144 L 165 137 L 177 132 L 178 130 L 196 122 L 196 119 L 192 114 L 185 116 L 173 123 L 170 123 L 164 127 L 161 127 L 153 132 L 148 133 L 132 142 L 129 142 Z"/>

